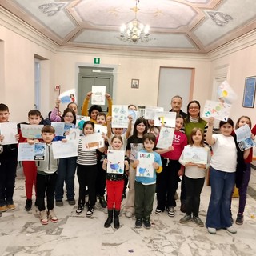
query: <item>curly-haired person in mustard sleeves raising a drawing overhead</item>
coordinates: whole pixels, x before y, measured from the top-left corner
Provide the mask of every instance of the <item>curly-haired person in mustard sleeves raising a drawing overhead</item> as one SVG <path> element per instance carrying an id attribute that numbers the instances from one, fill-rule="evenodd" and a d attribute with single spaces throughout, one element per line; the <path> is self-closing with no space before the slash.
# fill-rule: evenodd
<path id="1" fill-rule="evenodd" d="M 97 123 L 96 117 L 97 117 L 98 112 L 102 112 L 102 107 L 98 106 L 98 105 L 93 105 L 90 107 L 90 109 L 88 111 L 89 101 L 90 101 L 90 97 L 92 94 L 93 93 L 91 91 L 86 94 L 86 98 L 84 99 L 84 102 L 82 104 L 81 114 L 83 116 L 90 116 L 90 121 Z M 105 95 L 106 95 L 106 100 L 107 100 L 107 104 L 108 104 L 107 115 L 111 115 L 112 114 L 112 98 L 111 98 L 110 94 L 105 94 Z"/>

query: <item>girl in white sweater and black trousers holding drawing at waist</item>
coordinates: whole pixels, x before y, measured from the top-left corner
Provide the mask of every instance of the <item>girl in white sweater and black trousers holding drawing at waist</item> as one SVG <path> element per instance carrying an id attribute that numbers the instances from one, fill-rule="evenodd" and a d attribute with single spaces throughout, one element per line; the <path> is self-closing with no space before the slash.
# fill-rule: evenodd
<path id="1" fill-rule="evenodd" d="M 196 157 L 197 156 L 197 157 Z M 198 162 L 202 159 L 202 162 Z M 206 169 L 210 166 L 210 149 L 204 145 L 204 136 L 201 128 L 194 128 L 190 134 L 190 145 L 185 146 L 179 162 L 186 167 L 186 215 L 180 219 L 180 223 L 185 224 L 191 220 L 203 227 L 204 224 L 199 218 L 200 194 L 205 182 Z"/>

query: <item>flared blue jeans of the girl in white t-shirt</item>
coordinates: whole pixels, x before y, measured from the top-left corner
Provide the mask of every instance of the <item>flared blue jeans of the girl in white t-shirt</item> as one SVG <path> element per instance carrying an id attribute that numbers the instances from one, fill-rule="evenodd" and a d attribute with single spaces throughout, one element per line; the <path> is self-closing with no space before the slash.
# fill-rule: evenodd
<path id="1" fill-rule="evenodd" d="M 232 226 L 230 202 L 234 189 L 235 172 L 215 170 L 210 166 L 210 202 L 206 217 L 206 226 L 216 229 Z"/>

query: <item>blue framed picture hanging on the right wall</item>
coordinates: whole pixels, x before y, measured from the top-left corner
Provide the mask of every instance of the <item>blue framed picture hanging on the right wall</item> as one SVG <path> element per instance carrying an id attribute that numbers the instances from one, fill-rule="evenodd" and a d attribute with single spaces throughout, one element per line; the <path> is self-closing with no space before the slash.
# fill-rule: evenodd
<path id="1" fill-rule="evenodd" d="M 247 77 L 243 93 L 242 106 L 254 108 L 256 76 Z"/>

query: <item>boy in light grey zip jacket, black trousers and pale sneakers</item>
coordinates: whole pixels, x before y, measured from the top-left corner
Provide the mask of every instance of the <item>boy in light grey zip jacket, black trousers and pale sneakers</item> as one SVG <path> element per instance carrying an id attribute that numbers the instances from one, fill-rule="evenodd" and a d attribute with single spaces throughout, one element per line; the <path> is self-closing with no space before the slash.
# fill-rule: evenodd
<path id="1" fill-rule="evenodd" d="M 53 126 L 42 127 L 42 140 L 46 143 L 46 158 L 44 161 L 37 161 L 37 202 L 40 220 L 42 225 L 51 222 L 58 222 L 54 213 L 54 191 L 57 182 L 58 159 L 54 159 L 52 141 L 55 137 Z M 45 206 L 45 197 L 47 202 L 47 211 Z"/>

